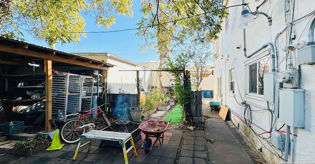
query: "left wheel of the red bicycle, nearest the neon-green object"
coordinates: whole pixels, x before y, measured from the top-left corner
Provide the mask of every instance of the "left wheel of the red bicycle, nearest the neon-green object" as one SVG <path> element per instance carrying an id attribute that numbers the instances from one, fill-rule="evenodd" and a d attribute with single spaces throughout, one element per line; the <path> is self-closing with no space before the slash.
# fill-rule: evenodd
<path id="1" fill-rule="evenodd" d="M 81 135 L 85 133 L 85 129 L 74 131 L 78 121 L 78 119 L 73 119 L 63 124 L 63 127 L 60 131 L 60 136 L 63 141 L 67 143 L 75 143 L 80 140 Z M 82 125 L 85 125 L 85 123 L 80 121 L 77 127 Z"/>

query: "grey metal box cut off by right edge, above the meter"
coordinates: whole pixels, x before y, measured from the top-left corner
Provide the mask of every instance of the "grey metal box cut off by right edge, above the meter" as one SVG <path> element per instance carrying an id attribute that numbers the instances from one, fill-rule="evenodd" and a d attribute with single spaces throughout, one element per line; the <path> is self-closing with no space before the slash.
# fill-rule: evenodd
<path id="1" fill-rule="evenodd" d="M 298 50 L 298 63 L 315 64 L 315 45 L 306 46 Z"/>

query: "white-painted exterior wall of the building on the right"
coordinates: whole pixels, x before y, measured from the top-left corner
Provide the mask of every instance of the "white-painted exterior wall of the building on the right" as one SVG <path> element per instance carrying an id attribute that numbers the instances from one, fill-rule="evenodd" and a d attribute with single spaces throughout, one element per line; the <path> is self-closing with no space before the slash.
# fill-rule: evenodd
<path id="1" fill-rule="evenodd" d="M 229 7 L 229 16 L 223 20 L 222 30 L 219 39 L 215 40 L 214 45 L 214 94 L 231 111 L 232 122 L 239 127 L 242 134 L 251 142 L 254 150 L 262 147 L 261 155 L 268 164 L 277 164 L 284 162 L 285 156 L 289 162 L 301 162 L 303 160 L 314 160 L 315 155 L 315 78 L 312 74 L 315 72 L 315 65 L 298 65 L 298 50 L 283 51 L 282 47 L 308 40 L 308 28 L 310 22 L 315 17 L 314 0 L 224 0 L 225 6 L 233 6 L 248 3 L 247 9 L 255 11 L 257 6 L 259 12 L 264 12 L 272 18 L 272 24 L 268 25 L 268 19 L 265 15 L 259 14 L 254 16 L 255 24 L 245 29 L 238 28 L 238 20 L 241 12 L 246 6 Z M 262 5 L 260 5 L 262 4 Z M 285 12 L 287 11 L 287 12 Z M 285 18 L 286 14 L 291 14 Z M 310 14 L 309 14 L 310 13 Z M 309 15 L 308 15 L 309 14 Z M 292 18 L 293 15 L 293 18 Z M 287 21 L 285 21 L 285 19 Z M 288 35 L 287 31 L 292 33 Z M 287 30 L 289 29 L 289 30 Z M 314 36 L 314 33 L 312 34 Z M 289 39 L 291 38 L 291 43 Z M 244 43 L 245 39 L 245 43 Z M 264 47 L 264 48 L 263 48 Z M 244 49 L 246 48 L 246 49 Z M 275 83 L 273 90 L 275 93 L 275 103 L 266 101 L 263 94 L 253 94 L 250 90 L 255 86 L 251 86 L 250 76 L 251 66 L 269 59 L 268 72 L 272 72 L 272 48 L 275 53 L 275 73 L 285 70 L 300 70 L 300 84 L 298 88 L 304 89 L 304 128 L 290 127 L 286 129 L 284 122 L 277 118 L 277 109 L 279 100 L 279 83 Z M 223 56 L 221 59 L 219 56 Z M 288 56 L 288 57 L 287 57 Z M 292 58 L 290 57 L 292 56 Z M 290 61 L 292 66 L 290 68 Z M 260 68 L 260 65 L 257 67 Z M 231 75 L 234 75 L 231 77 Z M 231 80 L 233 79 L 233 81 Z M 262 78 L 258 78 L 262 79 Z M 234 82 L 234 91 L 231 91 L 231 85 Z M 269 83 L 271 81 L 264 81 Z M 284 84 L 286 85 L 286 84 Z M 257 92 L 259 92 L 259 86 Z M 290 87 L 288 87 L 290 88 Z M 263 89 L 263 87 L 260 87 Z M 265 95 L 267 95 L 265 93 Z M 244 106 L 244 103 L 248 106 Z M 303 103 L 303 102 L 302 102 Z M 280 104 L 282 105 L 282 104 Z M 244 115 L 244 111 L 249 112 L 251 108 L 251 119 L 248 115 Z M 267 110 L 270 109 L 270 110 Z M 281 116 L 280 116 L 281 117 Z M 246 120 L 245 120 L 246 118 Z M 286 118 L 282 118 L 286 119 Z M 288 118 L 289 119 L 289 118 Z M 245 123 L 245 122 L 247 123 Z M 248 123 L 251 123 L 249 126 Z M 283 126 L 284 125 L 284 126 Z M 252 127 L 252 129 L 250 128 Z M 288 151 L 280 151 L 275 148 L 271 142 L 270 133 L 267 131 L 289 131 L 296 136 L 293 143 L 290 144 Z M 261 134 L 264 133 L 264 134 Z M 285 133 L 284 133 L 285 134 Z M 266 138 L 265 140 L 262 138 Z M 292 148 L 292 149 L 291 149 Z M 288 153 L 286 155 L 286 153 Z M 314 162 L 314 161 L 312 161 Z"/>

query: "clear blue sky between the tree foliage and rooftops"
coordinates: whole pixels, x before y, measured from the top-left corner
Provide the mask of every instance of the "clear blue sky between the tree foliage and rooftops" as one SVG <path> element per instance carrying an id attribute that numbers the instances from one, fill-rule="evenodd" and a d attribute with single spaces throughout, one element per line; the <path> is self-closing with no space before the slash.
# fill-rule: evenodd
<path id="1" fill-rule="evenodd" d="M 113 24 L 109 29 L 106 27 L 98 27 L 95 25 L 93 17 L 86 18 L 86 31 L 115 31 L 137 28 L 135 24 L 140 21 L 142 13 L 139 11 L 141 5 L 139 0 L 134 0 L 132 6 L 133 18 L 125 16 L 117 16 L 116 24 Z M 127 30 L 121 32 L 108 32 L 108 33 L 87 33 L 86 38 L 80 38 L 79 44 L 56 44 L 55 48 L 58 51 L 74 53 L 74 52 L 108 52 L 113 55 L 119 56 L 134 63 L 147 63 L 150 60 L 158 61 L 158 54 L 154 50 L 147 50 L 147 52 L 140 51 L 140 45 L 145 42 L 141 40 L 135 33 L 137 30 Z M 34 44 L 41 47 L 49 46 L 46 43 L 34 40 L 32 36 L 26 35 L 25 42 Z"/>

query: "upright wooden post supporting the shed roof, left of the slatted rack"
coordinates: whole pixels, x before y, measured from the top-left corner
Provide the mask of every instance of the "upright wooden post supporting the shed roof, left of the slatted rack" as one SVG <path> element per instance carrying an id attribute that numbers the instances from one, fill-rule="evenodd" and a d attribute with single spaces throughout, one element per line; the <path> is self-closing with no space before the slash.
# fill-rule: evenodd
<path id="1" fill-rule="evenodd" d="M 45 67 L 45 93 L 46 93 L 46 113 L 45 113 L 45 131 L 51 131 L 51 118 L 52 118 L 52 61 L 44 60 Z"/>

